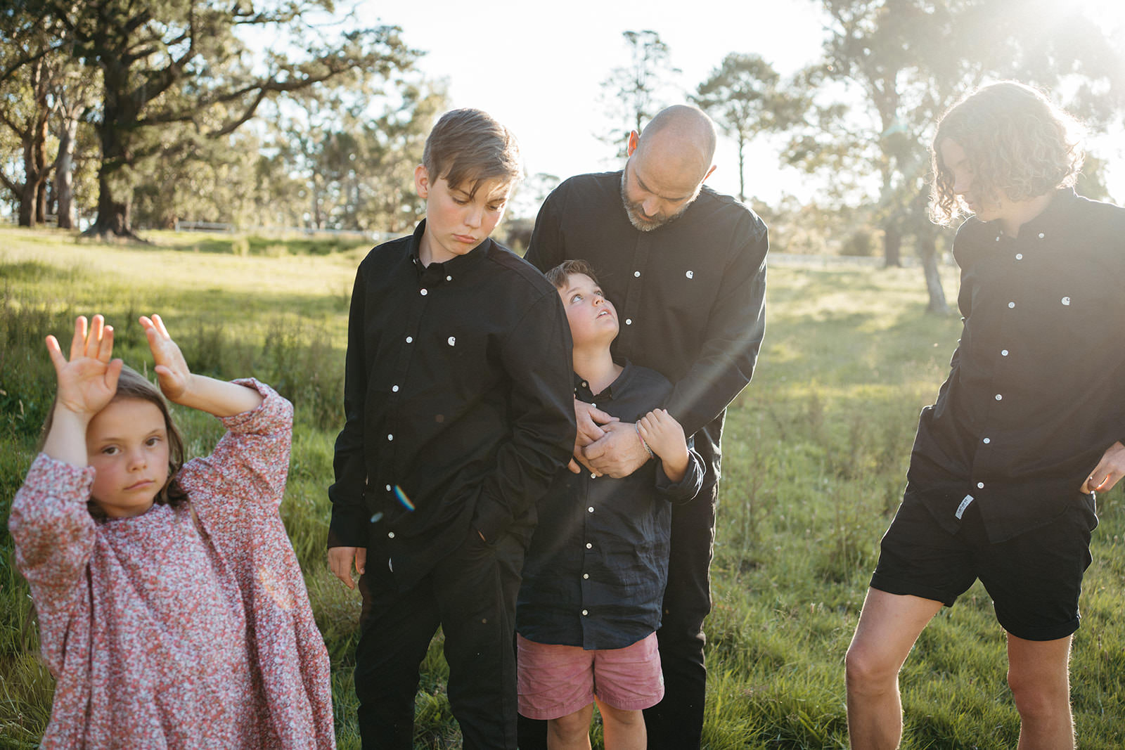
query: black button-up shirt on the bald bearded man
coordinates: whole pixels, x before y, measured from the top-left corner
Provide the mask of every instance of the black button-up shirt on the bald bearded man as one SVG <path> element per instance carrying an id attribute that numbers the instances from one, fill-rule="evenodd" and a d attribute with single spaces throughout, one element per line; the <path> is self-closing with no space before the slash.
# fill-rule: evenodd
<path id="1" fill-rule="evenodd" d="M 546 271 L 588 261 L 613 300 L 618 358 L 674 385 L 666 408 L 719 478 L 727 406 L 750 381 L 765 334 L 766 226 L 730 196 L 704 187 L 676 220 L 651 232 L 630 223 L 621 172 L 583 174 L 548 196 L 528 260 Z"/>

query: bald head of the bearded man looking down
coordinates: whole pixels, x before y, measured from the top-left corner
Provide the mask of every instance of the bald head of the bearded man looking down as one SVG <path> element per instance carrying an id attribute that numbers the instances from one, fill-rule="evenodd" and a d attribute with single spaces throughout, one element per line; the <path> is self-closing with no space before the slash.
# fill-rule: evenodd
<path id="1" fill-rule="evenodd" d="M 629 135 L 621 200 L 630 223 L 651 232 L 682 215 L 714 170 L 714 123 L 701 109 L 676 105 Z"/>

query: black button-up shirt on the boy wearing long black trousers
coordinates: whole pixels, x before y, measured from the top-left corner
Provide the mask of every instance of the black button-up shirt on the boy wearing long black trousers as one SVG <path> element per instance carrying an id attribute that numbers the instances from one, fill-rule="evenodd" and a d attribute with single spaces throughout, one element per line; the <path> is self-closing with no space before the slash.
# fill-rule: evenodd
<path id="1" fill-rule="evenodd" d="M 328 545 L 367 548 L 400 588 L 477 530 L 530 535 L 576 432 L 558 291 L 492 240 L 423 266 L 424 231 L 356 274 L 328 488 Z"/>

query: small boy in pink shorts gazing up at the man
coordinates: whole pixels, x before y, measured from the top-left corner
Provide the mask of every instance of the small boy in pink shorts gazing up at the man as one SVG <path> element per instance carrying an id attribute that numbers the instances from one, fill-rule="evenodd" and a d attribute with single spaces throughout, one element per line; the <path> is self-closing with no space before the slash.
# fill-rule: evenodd
<path id="1" fill-rule="evenodd" d="M 656 630 L 670 504 L 699 494 L 704 466 L 655 408 L 672 383 L 611 356 L 618 316 L 590 265 L 565 261 L 547 279 L 570 325 L 575 398 L 629 424 L 658 460 L 620 479 L 562 469 L 540 500 L 516 609 L 520 713 L 548 721 L 551 750 L 588 749 L 596 702 L 605 747 L 644 750 L 641 710 L 664 697 Z"/>

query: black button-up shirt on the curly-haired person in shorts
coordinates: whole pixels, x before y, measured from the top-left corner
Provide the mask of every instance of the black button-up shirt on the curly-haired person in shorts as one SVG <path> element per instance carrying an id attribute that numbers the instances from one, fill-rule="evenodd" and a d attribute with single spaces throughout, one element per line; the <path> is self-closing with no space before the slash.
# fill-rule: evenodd
<path id="1" fill-rule="evenodd" d="M 1061 190 L 1018 237 L 970 218 L 953 252 L 964 329 L 906 500 L 951 532 L 978 503 L 999 542 L 1092 509 L 1082 482 L 1125 437 L 1125 209 Z"/>

